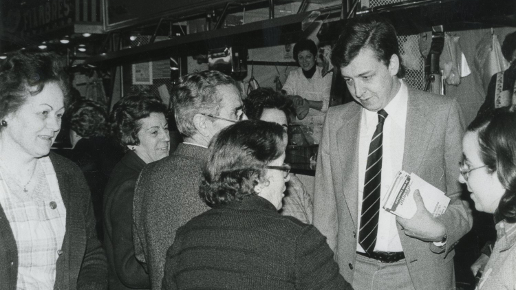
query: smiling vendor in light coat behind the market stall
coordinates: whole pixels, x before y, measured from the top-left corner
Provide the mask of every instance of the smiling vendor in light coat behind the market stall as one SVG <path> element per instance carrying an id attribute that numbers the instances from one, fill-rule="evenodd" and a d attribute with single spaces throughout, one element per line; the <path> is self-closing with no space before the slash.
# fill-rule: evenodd
<path id="1" fill-rule="evenodd" d="M 317 46 L 310 39 L 294 45 L 294 60 L 299 63 L 299 68 L 290 71 L 283 91 L 294 102 L 297 122 L 310 126 L 314 131 L 314 142 L 319 144 L 330 102 L 332 73 L 323 76 L 322 68 L 316 65 Z"/>

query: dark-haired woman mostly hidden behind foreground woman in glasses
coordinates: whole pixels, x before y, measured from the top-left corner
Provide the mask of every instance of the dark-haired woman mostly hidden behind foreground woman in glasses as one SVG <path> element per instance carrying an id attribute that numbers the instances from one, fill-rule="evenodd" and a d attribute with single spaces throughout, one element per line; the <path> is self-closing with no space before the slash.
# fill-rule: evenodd
<path id="1" fill-rule="evenodd" d="M 292 101 L 271 88 L 259 88 L 251 91 L 244 100 L 246 115 L 250 120 L 273 122 L 283 126 L 287 131 L 290 115 L 293 115 Z M 296 175 L 290 175 L 286 183 L 287 190 L 283 198 L 281 214 L 294 216 L 303 223 L 312 223 L 312 197 Z"/>

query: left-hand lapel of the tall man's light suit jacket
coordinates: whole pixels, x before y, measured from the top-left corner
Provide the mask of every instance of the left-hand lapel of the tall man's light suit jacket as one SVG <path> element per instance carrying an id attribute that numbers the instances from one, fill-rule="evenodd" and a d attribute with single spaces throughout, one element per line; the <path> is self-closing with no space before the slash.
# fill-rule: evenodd
<path id="1" fill-rule="evenodd" d="M 341 170 L 336 170 L 342 174 L 341 186 L 347 209 L 350 211 L 353 222 L 356 225 L 358 216 L 357 199 L 358 199 L 358 146 L 360 140 L 360 125 L 362 116 L 362 107 L 358 104 L 352 104 L 349 111 L 344 114 L 341 128 L 337 130 L 337 146 L 338 146 L 338 165 Z"/>

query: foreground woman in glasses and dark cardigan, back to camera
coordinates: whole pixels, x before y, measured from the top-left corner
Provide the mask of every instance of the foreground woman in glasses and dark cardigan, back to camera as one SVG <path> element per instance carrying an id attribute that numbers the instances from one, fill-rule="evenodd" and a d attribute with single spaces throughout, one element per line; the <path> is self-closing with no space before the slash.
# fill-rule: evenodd
<path id="1" fill-rule="evenodd" d="M 211 141 L 200 196 L 212 209 L 178 230 L 163 289 L 351 289 L 325 237 L 277 212 L 285 138 L 279 124 L 248 120 Z"/>

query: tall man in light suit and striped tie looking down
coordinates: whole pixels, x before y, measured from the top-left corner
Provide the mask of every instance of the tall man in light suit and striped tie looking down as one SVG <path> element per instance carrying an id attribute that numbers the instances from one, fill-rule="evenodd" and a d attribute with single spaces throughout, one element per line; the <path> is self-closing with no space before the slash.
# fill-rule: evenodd
<path id="1" fill-rule="evenodd" d="M 457 101 L 401 80 L 396 31 L 385 19 L 349 21 L 332 63 L 356 102 L 327 112 L 314 225 L 354 289 L 455 289 L 453 247 L 472 225 L 460 200 L 464 124 Z M 398 170 L 445 192 L 447 211 L 434 218 L 418 193 L 411 219 L 383 210 Z"/>

